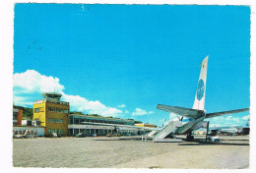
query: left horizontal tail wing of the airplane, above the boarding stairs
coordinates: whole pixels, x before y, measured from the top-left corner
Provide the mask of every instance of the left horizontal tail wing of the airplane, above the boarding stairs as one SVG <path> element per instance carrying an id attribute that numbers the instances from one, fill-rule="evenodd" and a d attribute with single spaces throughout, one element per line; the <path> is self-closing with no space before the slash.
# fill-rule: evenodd
<path id="1" fill-rule="evenodd" d="M 184 117 L 194 118 L 194 119 L 202 116 L 202 112 L 203 112 L 203 110 L 189 109 L 189 108 L 177 107 L 177 106 L 167 106 L 162 104 L 158 104 L 157 108 L 160 110 L 172 112 Z"/>

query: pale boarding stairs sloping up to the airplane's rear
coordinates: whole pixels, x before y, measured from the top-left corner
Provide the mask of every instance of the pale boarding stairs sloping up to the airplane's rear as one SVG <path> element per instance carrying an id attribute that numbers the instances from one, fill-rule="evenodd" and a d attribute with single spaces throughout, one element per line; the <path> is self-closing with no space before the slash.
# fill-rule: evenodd
<path id="1" fill-rule="evenodd" d="M 164 139 L 167 135 L 174 133 L 177 127 L 181 127 L 181 121 L 169 121 L 166 126 L 164 126 L 158 134 L 153 137 L 153 142 L 181 142 L 180 139 Z"/>

